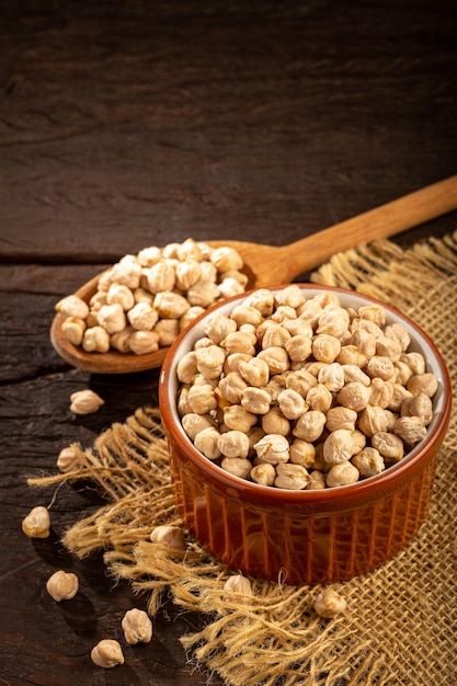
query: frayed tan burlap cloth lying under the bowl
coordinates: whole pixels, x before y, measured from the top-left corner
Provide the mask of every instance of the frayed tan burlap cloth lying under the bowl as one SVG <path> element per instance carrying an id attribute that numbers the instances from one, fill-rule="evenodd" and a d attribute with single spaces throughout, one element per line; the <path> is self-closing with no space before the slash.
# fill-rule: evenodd
<path id="1" fill-rule="evenodd" d="M 312 281 L 392 304 L 436 342 L 457 387 L 457 231 L 408 251 L 378 241 L 335 255 Z M 164 598 L 196 610 L 202 629 L 182 637 L 190 665 L 232 686 L 457 683 L 455 522 L 456 416 L 441 450 L 426 522 L 381 568 L 336 584 L 347 609 L 332 620 L 312 609 L 318 586 L 253 580 L 254 598 L 222 598 L 227 569 L 187 536 L 183 559 L 149 541 L 159 523 L 179 523 L 158 409 L 146 405 L 78 450 L 80 468 L 31 479 L 34 485 L 90 479 L 107 505 L 81 518 L 64 542 L 77 556 L 103 549 L 108 571 L 147 594 L 153 617 Z"/>

